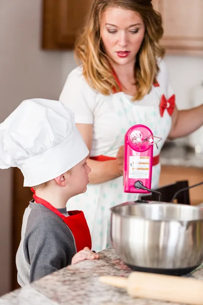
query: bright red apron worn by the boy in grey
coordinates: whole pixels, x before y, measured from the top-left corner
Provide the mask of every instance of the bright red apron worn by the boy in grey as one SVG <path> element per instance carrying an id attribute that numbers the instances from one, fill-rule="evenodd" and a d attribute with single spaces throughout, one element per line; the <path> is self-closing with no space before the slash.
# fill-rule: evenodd
<path id="1" fill-rule="evenodd" d="M 63 222 L 69 227 L 75 239 L 77 252 L 83 250 L 85 247 L 89 247 L 89 249 L 92 248 L 91 235 L 83 211 L 68 211 L 69 216 L 65 217 L 61 212 L 59 212 L 59 210 L 57 210 L 57 208 L 55 208 L 49 202 L 37 197 L 33 188 L 31 188 L 31 191 L 34 193 L 33 199 L 35 199 L 36 203 L 40 203 L 46 206 L 49 210 L 51 210 L 58 217 L 60 217 Z"/>

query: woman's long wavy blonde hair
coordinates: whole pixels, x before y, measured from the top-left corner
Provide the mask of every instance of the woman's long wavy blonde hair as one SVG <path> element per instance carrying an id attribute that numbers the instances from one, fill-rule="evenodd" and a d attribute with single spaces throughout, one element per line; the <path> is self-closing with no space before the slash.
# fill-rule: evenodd
<path id="1" fill-rule="evenodd" d="M 83 75 L 88 84 L 103 95 L 109 95 L 113 89 L 119 91 L 99 31 L 101 17 L 107 7 L 138 12 L 145 24 L 145 36 L 134 67 L 137 94 L 133 100 L 141 100 L 156 81 L 159 71 L 157 57 L 164 56 L 164 49 L 159 45 L 163 35 L 161 16 L 153 9 L 151 0 L 93 1 L 85 27 L 76 42 L 75 57 L 83 65 Z"/>

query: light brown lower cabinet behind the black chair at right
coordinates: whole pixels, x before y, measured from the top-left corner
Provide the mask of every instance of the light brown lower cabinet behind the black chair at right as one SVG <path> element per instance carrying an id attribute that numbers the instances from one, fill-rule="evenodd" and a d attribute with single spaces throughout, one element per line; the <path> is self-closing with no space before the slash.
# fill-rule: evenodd
<path id="1" fill-rule="evenodd" d="M 195 167 L 162 165 L 159 186 L 173 184 L 176 181 L 188 180 L 189 186 L 203 181 L 203 169 Z M 203 185 L 189 190 L 190 204 L 203 202 Z"/>

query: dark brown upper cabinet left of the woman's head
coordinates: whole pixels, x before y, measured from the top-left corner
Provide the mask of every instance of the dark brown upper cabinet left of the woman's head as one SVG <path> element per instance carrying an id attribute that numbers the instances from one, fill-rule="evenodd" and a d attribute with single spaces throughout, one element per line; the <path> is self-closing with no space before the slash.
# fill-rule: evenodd
<path id="1" fill-rule="evenodd" d="M 42 48 L 73 49 L 92 0 L 43 0 Z"/>

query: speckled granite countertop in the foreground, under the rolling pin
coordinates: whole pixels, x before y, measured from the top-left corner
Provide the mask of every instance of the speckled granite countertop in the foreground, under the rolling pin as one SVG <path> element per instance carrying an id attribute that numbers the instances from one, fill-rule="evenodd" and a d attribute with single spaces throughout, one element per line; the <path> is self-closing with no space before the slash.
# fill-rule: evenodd
<path id="1" fill-rule="evenodd" d="M 133 299 L 124 289 L 101 284 L 99 276 L 128 276 L 131 272 L 112 247 L 100 252 L 99 260 L 83 261 L 63 268 L 0 298 L 1 305 L 168 305 Z M 203 264 L 189 277 L 203 280 Z"/>

